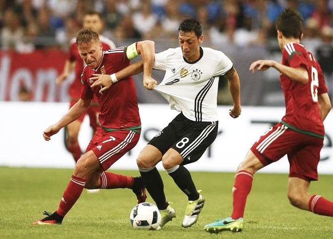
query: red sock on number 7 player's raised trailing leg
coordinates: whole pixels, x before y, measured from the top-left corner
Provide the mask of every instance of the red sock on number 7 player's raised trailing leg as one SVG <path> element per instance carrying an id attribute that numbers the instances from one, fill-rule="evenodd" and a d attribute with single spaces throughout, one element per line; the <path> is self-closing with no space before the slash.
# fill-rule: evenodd
<path id="1" fill-rule="evenodd" d="M 132 188 L 133 183 L 133 177 L 109 172 L 102 172 L 99 177 L 99 188 Z"/>

